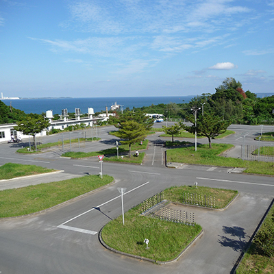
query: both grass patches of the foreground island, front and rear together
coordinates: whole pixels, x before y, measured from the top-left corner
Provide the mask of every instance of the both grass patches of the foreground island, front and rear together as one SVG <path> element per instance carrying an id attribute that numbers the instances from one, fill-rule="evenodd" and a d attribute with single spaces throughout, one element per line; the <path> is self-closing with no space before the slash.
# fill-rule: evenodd
<path id="1" fill-rule="evenodd" d="M 236 190 L 194 186 L 173 186 L 164 190 L 165 199 L 182 202 L 184 192 L 198 195 L 213 195 L 219 201 L 219 208 L 227 204 L 238 194 Z M 166 262 L 179 256 L 179 253 L 201 232 L 201 226 L 184 225 L 140 215 L 141 208 L 136 206 L 125 213 L 125 225 L 122 216 L 111 221 L 102 230 L 103 241 L 113 249 Z M 146 249 L 145 238 L 149 239 Z"/>

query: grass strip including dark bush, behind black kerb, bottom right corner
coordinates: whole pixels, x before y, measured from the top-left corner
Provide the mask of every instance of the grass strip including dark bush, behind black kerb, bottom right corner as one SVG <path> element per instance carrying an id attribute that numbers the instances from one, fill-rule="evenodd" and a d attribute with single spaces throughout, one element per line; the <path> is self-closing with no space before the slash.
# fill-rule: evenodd
<path id="1" fill-rule="evenodd" d="M 274 206 L 267 214 L 251 247 L 240 262 L 237 274 L 274 273 Z"/>

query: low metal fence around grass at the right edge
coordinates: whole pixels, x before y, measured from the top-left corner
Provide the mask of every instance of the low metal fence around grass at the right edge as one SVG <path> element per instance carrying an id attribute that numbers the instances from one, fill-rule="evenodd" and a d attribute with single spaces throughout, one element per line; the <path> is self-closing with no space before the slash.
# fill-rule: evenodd
<path id="1" fill-rule="evenodd" d="M 241 158 L 248 161 L 274 162 L 274 146 L 242 145 Z"/>

